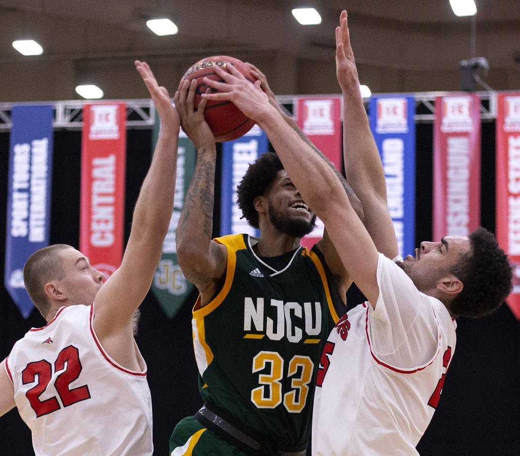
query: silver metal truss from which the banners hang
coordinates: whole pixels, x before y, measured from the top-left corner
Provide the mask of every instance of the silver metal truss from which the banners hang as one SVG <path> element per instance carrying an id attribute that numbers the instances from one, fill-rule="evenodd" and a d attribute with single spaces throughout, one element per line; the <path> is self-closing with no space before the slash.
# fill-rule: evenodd
<path id="1" fill-rule="evenodd" d="M 497 92 L 477 92 L 480 96 L 480 120 L 482 122 L 492 122 L 497 115 Z M 435 98 L 438 96 L 452 95 L 451 92 L 419 92 L 413 94 L 396 94 L 396 96 L 412 96 L 415 98 L 415 123 L 433 123 L 435 118 Z M 373 94 L 374 96 L 389 94 Z M 337 95 L 320 95 L 329 97 Z M 278 101 L 291 113 L 294 112 L 295 101 L 300 96 L 280 96 Z M 136 100 L 103 100 L 103 103 L 110 102 L 126 103 L 126 128 L 127 129 L 147 129 L 155 123 L 155 109 L 150 99 Z M 365 108 L 368 111 L 369 99 L 364 100 Z M 0 132 L 10 131 L 11 129 L 11 109 L 16 105 L 53 105 L 55 129 L 80 130 L 83 125 L 83 105 L 84 101 L 49 101 L 42 103 L 0 103 Z"/>

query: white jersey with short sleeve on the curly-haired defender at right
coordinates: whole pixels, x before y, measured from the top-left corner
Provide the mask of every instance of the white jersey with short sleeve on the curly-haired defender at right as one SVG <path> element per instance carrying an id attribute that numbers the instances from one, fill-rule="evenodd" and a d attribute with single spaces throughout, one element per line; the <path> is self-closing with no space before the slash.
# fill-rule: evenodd
<path id="1" fill-rule="evenodd" d="M 453 356 L 456 324 L 380 254 L 380 295 L 340 319 L 318 370 L 313 456 L 417 455 Z"/>

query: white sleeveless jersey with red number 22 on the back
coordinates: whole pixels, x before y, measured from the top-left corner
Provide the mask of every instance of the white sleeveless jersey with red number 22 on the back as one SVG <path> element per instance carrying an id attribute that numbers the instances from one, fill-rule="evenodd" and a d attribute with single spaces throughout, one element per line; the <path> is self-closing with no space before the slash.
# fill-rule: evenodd
<path id="1" fill-rule="evenodd" d="M 93 306 L 62 307 L 45 327 L 28 331 L 6 360 L 35 456 L 153 452 L 145 361 L 137 345 L 141 372 L 105 353 L 92 325 Z"/>

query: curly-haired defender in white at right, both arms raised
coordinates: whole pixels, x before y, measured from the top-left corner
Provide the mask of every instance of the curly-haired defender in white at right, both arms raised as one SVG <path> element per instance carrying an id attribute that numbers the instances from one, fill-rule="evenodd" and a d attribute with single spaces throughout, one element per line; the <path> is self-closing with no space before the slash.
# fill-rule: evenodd
<path id="1" fill-rule="evenodd" d="M 456 342 L 458 315 L 495 310 L 511 290 L 511 267 L 484 228 L 422 242 L 398 258 L 386 204 L 383 167 L 359 93 L 346 12 L 336 29 L 337 76 L 344 96 L 347 180 L 362 202 L 365 225 L 339 179 L 269 106 L 259 82 L 235 69 L 205 82 L 266 132 L 304 201 L 329 231 L 346 270 L 368 301 L 332 330 L 318 371 L 313 455 L 417 454 Z M 230 74 L 231 73 L 231 74 Z M 381 252 L 381 253 L 380 253 Z M 390 258 L 396 258 L 394 262 Z"/>

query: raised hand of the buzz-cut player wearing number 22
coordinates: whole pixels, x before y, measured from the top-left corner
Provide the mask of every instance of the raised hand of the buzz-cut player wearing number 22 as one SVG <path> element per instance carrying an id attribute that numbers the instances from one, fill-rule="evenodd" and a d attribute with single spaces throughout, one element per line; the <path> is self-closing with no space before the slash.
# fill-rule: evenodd
<path id="1" fill-rule="evenodd" d="M 148 63 L 139 60 L 136 60 L 134 63 L 142 81 L 148 88 L 155 109 L 157 109 L 159 114 L 161 131 L 177 135 L 180 128 L 180 118 L 177 110 L 172 105 L 168 90 L 166 90 L 165 87 L 159 86 Z"/>

